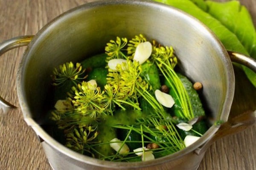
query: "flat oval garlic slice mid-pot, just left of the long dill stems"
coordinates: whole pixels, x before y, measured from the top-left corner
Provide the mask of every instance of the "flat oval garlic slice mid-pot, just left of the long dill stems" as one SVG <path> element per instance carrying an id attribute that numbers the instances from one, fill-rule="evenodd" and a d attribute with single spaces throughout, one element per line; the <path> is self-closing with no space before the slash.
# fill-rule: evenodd
<path id="1" fill-rule="evenodd" d="M 171 95 L 163 93 L 160 90 L 155 91 L 155 96 L 157 98 L 157 101 L 166 108 L 172 108 L 175 103 Z"/>

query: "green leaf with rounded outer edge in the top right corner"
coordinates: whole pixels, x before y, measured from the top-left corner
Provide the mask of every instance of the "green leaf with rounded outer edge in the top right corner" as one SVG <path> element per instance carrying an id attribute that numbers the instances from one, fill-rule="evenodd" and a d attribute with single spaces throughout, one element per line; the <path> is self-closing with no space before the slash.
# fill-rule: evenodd
<path id="1" fill-rule="evenodd" d="M 206 1 L 207 12 L 238 37 L 247 54 L 256 59 L 256 31 L 250 13 L 239 1 L 225 3 Z M 235 50 L 236 51 L 236 50 Z M 256 74 L 243 66 L 244 72 L 256 87 Z"/>

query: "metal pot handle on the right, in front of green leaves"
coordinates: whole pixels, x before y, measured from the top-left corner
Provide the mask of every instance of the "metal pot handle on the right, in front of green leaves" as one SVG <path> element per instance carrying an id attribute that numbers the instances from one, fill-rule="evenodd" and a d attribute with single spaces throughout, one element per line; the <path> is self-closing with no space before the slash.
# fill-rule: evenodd
<path id="1" fill-rule="evenodd" d="M 242 64 L 256 73 L 256 59 L 234 51 L 227 52 L 230 56 L 231 61 Z"/>

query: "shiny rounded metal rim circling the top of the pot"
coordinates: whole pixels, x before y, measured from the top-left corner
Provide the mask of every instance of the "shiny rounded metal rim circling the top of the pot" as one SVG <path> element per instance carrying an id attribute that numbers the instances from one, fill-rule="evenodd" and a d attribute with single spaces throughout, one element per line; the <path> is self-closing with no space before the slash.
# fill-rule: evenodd
<path id="1" fill-rule="evenodd" d="M 31 48 L 33 45 L 35 45 L 37 43 L 37 40 L 41 36 L 43 36 L 43 34 L 45 34 L 47 32 L 47 29 L 49 27 L 55 26 L 56 22 L 61 22 L 61 20 L 67 16 L 73 15 L 79 11 L 83 11 L 83 10 L 86 10 L 91 7 L 104 6 L 104 5 L 118 5 L 118 4 L 131 4 L 131 5 L 132 4 L 133 5 L 134 4 L 135 5 L 143 4 L 145 6 L 154 6 L 154 8 L 161 8 L 161 9 L 164 8 L 165 10 L 173 11 L 175 13 L 178 13 L 179 15 L 182 15 L 185 18 L 188 18 L 189 20 L 191 20 L 192 23 L 196 24 L 198 27 L 203 28 L 205 31 L 207 31 L 208 36 L 212 37 L 212 40 L 215 40 L 216 44 L 219 45 L 219 47 L 221 49 L 221 53 L 223 53 L 224 57 L 225 57 L 224 65 L 227 65 L 227 74 L 229 75 L 228 86 L 230 88 L 227 89 L 228 95 L 227 95 L 227 99 L 226 99 L 225 103 L 223 103 L 223 108 L 221 109 L 222 112 L 218 113 L 218 117 L 217 117 L 218 120 L 221 120 L 223 122 L 227 121 L 229 112 L 230 112 L 230 108 L 231 108 L 231 104 L 233 101 L 234 89 L 235 89 L 235 85 L 231 84 L 231 82 L 234 82 L 235 77 L 234 77 L 232 62 L 227 53 L 227 50 L 222 45 L 221 41 L 218 40 L 218 37 L 216 37 L 216 35 L 207 26 L 205 26 L 204 23 L 201 23 L 201 21 L 199 21 L 195 17 L 192 17 L 191 15 L 189 15 L 189 14 L 185 13 L 184 11 L 181 11 L 180 9 L 177 9 L 175 7 L 168 6 L 163 3 L 153 2 L 151 0 L 143 0 L 143 1 L 141 1 L 141 0 L 99 0 L 99 1 L 91 2 L 91 3 L 86 3 L 84 5 L 78 6 L 76 8 L 72 8 L 72 9 L 60 14 L 59 16 L 57 16 L 53 20 L 51 20 L 49 23 L 47 23 L 43 28 L 41 28 L 38 31 L 38 33 L 35 35 L 35 37 L 32 39 L 32 41 L 29 43 L 28 47 L 26 48 L 26 51 L 23 54 L 22 60 L 20 62 L 19 70 L 18 70 L 18 74 L 17 74 L 17 94 L 18 94 L 18 99 L 19 99 L 19 103 L 21 106 L 21 110 L 23 112 L 24 120 L 27 123 L 27 125 L 32 127 L 32 129 L 35 131 L 37 136 L 39 136 L 39 138 L 42 139 L 44 142 L 47 142 L 47 144 L 49 144 L 51 147 L 55 148 L 59 152 L 65 154 L 73 159 L 76 159 L 77 161 L 85 162 L 87 164 L 97 165 L 97 166 L 101 166 L 101 167 L 112 167 L 112 168 L 113 168 L 113 166 L 115 166 L 117 168 L 136 167 L 136 166 L 148 167 L 153 164 L 154 165 L 162 164 L 163 162 L 166 162 L 166 161 L 172 161 L 172 160 L 178 159 L 181 156 L 185 156 L 187 153 L 193 152 L 194 150 L 196 150 L 197 148 L 199 148 L 203 144 L 205 144 L 217 132 L 220 125 L 215 125 L 215 124 L 212 125 L 207 130 L 207 132 L 204 133 L 204 135 L 201 136 L 201 138 L 198 139 L 198 141 L 196 141 L 194 144 L 190 145 L 189 147 L 186 147 L 183 150 L 177 151 L 176 153 L 170 154 L 168 156 L 164 156 L 164 157 L 157 158 L 152 161 L 146 161 L 146 162 L 143 162 L 143 161 L 141 161 L 141 162 L 111 162 L 111 161 L 102 161 L 99 159 L 94 159 L 92 157 L 84 156 L 80 153 L 76 153 L 75 151 L 70 150 L 69 148 L 65 147 L 64 145 L 60 144 L 58 141 L 53 139 L 31 116 L 31 111 L 26 102 L 26 95 L 23 92 L 23 91 L 25 91 L 25 89 L 23 89 L 24 87 L 22 85 L 22 77 L 23 77 L 23 73 L 25 72 L 24 65 L 26 65 L 26 57 L 29 53 L 29 48 Z"/>

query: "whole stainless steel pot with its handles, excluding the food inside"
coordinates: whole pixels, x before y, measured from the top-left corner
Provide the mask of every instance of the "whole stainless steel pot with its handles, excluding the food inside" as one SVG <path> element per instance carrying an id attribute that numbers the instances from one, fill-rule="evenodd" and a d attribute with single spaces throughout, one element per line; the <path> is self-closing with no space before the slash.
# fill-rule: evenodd
<path id="1" fill-rule="evenodd" d="M 172 45 L 180 69 L 192 81 L 202 82 L 204 104 L 212 126 L 197 142 L 160 159 L 147 162 L 110 162 L 76 153 L 53 139 L 42 127 L 53 68 L 104 51 L 116 36 L 144 34 L 163 45 Z M 255 122 L 255 112 L 227 122 L 235 90 L 231 59 L 256 71 L 256 61 L 227 53 L 217 37 L 188 14 L 148 0 L 102 0 L 61 14 L 35 36 L 16 37 L 0 44 L 0 55 L 28 45 L 17 75 L 17 92 L 23 117 L 35 131 L 54 170 L 195 170 L 209 144 Z M 0 106 L 13 107 L 0 97 Z M 215 122 L 225 122 L 223 125 Z"/>

